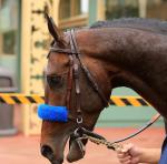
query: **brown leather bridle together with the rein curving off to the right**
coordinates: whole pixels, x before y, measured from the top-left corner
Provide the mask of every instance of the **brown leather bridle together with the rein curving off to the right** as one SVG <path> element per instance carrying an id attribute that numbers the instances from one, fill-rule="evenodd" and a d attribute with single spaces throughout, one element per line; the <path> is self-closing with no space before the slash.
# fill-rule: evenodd
<path id="1" fill-rule="evenodd" d="M 88 129 L 85 129 L 86 126 L 84 125 L 84 119 L 82 119 L 82 113 L 81 113 L 81 101 L 80 101 L 80 84 L 79 84 L 79 75 L 80 75 L 80 70 L 84 71 L 86 74 L 88 81 L 90 82 L 91 86 L 96 91 L 96 93 L 99 95 L 101 99 L 102 103 L 105 106 L 108 106 L 111 104 L 108 102 L 104 93 L 101 92 L 99 85 L 97 84 L 96 80 L 91 75 L 90 71 L 88 68 L 81 62 L 81 53 L 78 49 L 76 37 L 75 37 L 75 30 L 69 31 L 69 37 L 70 37 L 70 49 L 60 49 L 60 48 L 55 48 L 53 45 L 50 48 L 50 52 L 58 52 L 58 53 L 66 53 L 69 57 L 70 60 L 70 66 L 69 66 L 69 72 L 68 72 L 68 85 L 67 85 L 67 94 L 66 94 L 66 106 L 70 111 L 71 104 L 71 91 L 72 91 L 72 83 L 75 83 L 75 92 L 76 92 L 76 111 L 77 111 L 77 116 L 68 115 L 68 119 L 71 121 L 75 121 L 77 123 L 77 129 L 75 132 L 71 134 L 70 140 L 73 140 L 78 143 L 80 150 L 84 150 L 84 144 L 82 140 L 90 140 L 91 142 L 96 144 L 104 144 L 108 148 L 111 150 L 118 150 L 121 147 L 117 143 L 126 141 L 128 139 L 131 139 L 136 136 L 137 134 L 141 133 L 144 130 L 149 127 L 154 122 L 156 122 L 159 117 L 160 114 L 156 114 L 154 117 L 151 117 L 150 121 L 146 123 L 146 125 L 141 126 L 137 132 L 130 134 L 127 137 L 114 141 L 114 142 L 108 142 L 104 136 L 96 134 Z M 84 152 L 84 151 L 82 151 Z"/>

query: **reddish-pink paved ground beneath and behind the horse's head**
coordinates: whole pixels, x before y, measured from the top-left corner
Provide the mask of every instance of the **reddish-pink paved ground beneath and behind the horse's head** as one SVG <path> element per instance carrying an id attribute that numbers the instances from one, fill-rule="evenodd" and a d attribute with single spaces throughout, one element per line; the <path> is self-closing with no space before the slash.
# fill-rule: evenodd
<path id="1" fill-rule="evenodd" d="M 96 132 L 107 139 L 116 140 L 134 132 L 135 129 L 97 129 Z M 128 142 L 139 146 L 159 147 L 164 139 L 164 130 L 151 127 Z M 67 152 L 67 150 L 66 150 Z M 0 137 L 0 163 L 1 164 L 49 164 L 39 152 L 39 136 L 26 137 L 21 134 L 12 137 Z M 105 146 L 92 143 L 87 145 L 87 154 L 77 164 L 119 164 L 116 153 Z M 65 161 L 65 164 L 67 162 Z"/>

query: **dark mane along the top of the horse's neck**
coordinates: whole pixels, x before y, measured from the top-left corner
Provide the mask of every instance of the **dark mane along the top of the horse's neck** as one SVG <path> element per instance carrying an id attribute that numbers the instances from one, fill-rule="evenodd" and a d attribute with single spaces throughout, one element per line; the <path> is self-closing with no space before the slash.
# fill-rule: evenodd
<path id="1" fill-rule="evenodd" d="M 98 28 L 132 28 L 167 34 L 167 21 L 144 18 L 120 18 L 110 21 L 97 21 L 90 29 Z"/>

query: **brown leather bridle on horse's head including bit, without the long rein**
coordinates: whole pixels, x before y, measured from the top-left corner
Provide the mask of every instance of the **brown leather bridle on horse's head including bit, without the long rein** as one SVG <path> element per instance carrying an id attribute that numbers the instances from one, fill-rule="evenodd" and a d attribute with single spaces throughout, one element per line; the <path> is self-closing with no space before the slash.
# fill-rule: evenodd
<path id="1" fill-rule="evenodd" d="M 70 41 L 70 49 L 61 49 L 61 48 L 56 48 L 52 47 L 50 48 L 49 54 L 51 52 L 57 52 L 57 53 L 66 53 L 69 57 L 69 73 L 68 73 L 68 84 L 67 84 L 67 94 L 66 94 L 66 106 L 70 112 L 71 109 L 71 92 L 72 92 L 72 83 L 75 83 L 75 92 L 76 92 L 76 109 L 75 111 L 77 112 L 77 116 L 73 116 L 69 113 L 68 120 L 73 121 L 77 123 L 76 130 L 70 134 L 70 142 L 77 142 L 80 152 L 82 156 L 85 155 L 85 146 L 81 140 L 78 140 L 84 136 L 84 133 L 89 134 L 94 137 L 98 137 L 104 140 L 102 136 L 95 134 L 91 132 L 94 127 L 88 127 L 84 123 L 82 119 L 82 112 L 81 112 L 81 100 L 80 100 L 80 83 L 79 83 L 79 78 L 80 78 L 80 70 L 85 73 L 87 76 L 87 80 L 90 82 L 90 85 L 95 90 L 95 92 L 99 95 L 100 100 L 104 103 L 104 106 L 108 106 L 109 102 L 107 98 L 101 92 L 99 85 L 97 84 L 96 80 L 91 75 L 90 71 L 88 68 L 82 63 L 81 61 L 81 53 L 78 49 L 76 37 L 75 37 L 75 29 L 71 29 L 69 31 L 69 41 Z"/>

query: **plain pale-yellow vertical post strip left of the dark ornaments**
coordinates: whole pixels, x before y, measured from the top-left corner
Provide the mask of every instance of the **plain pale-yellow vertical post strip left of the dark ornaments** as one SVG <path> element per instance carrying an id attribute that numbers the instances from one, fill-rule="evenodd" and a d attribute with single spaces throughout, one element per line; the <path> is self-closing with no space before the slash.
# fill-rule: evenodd
<path id="1" fill-rule="evenodd" d="M 21 17 L 21 91 L 29 94 L 30 83 L 30 1 L 22 0 Z M 23 107 L 23 133 L 29 135 L 29 106 Z"/>

